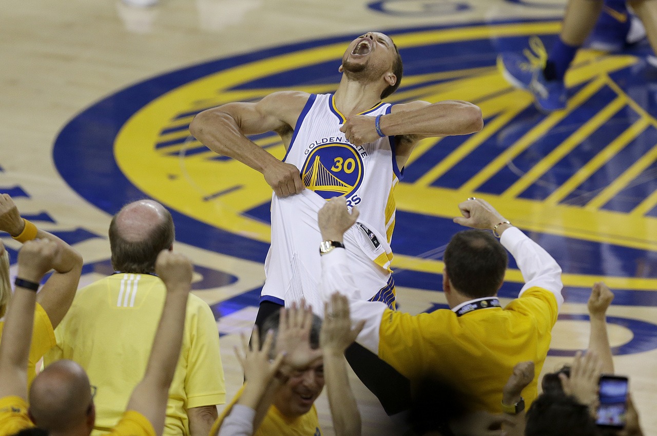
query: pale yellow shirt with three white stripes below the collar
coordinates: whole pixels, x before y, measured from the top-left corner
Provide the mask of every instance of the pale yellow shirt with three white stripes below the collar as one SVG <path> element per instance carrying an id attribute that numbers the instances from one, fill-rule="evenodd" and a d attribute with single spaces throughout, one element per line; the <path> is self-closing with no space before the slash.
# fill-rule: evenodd
<path id="1" fill-rule="evenodd" d="M 98 388 L 93 435 L 116 425 L 143 378 L 165 297 L 164 283 L 156 276 L 113 274 L 78 290 L 55 330 L 57 347 L 45 355 L 45 364 L 70 359 L 85 368 Z M 164 435 L 189 435 L 187 409 L 223 403 L 217 324 L 210 307 L 191 294 Z"/>

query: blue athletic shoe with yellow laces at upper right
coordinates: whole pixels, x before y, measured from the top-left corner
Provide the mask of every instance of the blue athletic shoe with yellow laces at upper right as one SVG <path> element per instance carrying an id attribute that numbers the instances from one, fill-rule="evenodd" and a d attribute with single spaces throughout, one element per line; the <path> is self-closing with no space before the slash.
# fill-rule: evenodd
<path id="1" fill-rule="evenodd" d="M 497 68 L 516 88 L 533 94 L 541 112 L 554 112 L 566 108 L 566 85 L 562 80 L 547 81 L 543 75 L 547 51 L 538 37 L 530 39 L 530 47 L 517 53 L 504 53 L 497 57 Z"/>

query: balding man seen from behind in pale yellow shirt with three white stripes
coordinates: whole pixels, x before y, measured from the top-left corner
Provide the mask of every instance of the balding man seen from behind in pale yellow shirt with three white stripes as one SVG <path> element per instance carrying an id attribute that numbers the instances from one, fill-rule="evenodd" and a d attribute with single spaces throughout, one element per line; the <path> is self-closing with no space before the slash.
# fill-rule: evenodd
<path id="1" fill-rule="evenodd" d="M 175 231 L 171 214 L 152 200 L 123 207 L 109 230 L 111 276 L 78 291 L 68 315 L 55 330 L 57 346 L 45 364 L 78 362 L 98 387 L 94 435 L 121 418 L 125 403 L 146 368 L 166 295 L 154 274 L 161 250 L 171 250 Z M 207 436 L 225 403 L 219 334 L 210 307 L 189 295 L 183 353 L 171 383 L 167 436 Z"/>

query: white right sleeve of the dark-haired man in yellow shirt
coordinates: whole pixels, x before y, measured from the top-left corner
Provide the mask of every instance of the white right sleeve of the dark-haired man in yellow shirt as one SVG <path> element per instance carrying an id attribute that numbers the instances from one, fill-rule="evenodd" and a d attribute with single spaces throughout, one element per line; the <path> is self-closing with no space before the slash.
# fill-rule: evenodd
<path id="1" fill-rule="evenodd" d="M 556 303 L 561 307 L 564 302 L 561 295 L 564 284 L 561 282 L 561 268 L 555 259 L 516 227 L 505 230 L 500 242 L 516 259 L 525 280 L 518 297 L 529 288 L 538 286 L 555 294 Z"/>

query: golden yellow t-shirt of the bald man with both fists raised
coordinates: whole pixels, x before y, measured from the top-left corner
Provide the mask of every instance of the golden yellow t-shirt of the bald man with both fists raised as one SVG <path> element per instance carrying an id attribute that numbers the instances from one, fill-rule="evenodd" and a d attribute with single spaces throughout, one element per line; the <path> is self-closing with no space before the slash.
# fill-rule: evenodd
<path id="1" fill-rule="evenodd" d="M 28 403 L 20 397 L 0 399 L 0 436 L 9 436 L 23 429 L 34 427 L 28 416 Z M 156 436 L 155 429 L 139 412 L 126 410 L 121 420 L 112 428 L 109 435 L 116 436 Z"/>

